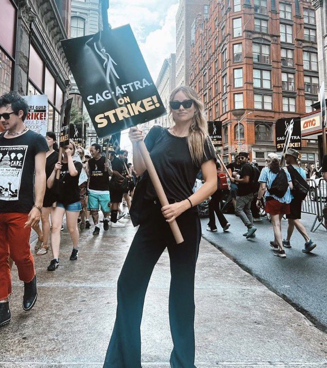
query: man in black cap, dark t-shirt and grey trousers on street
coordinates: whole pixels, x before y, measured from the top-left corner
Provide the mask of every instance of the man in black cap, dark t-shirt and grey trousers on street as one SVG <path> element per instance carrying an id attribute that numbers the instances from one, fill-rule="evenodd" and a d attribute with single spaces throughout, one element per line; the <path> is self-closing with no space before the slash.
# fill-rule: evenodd
<path id="1" fill-rule="evenodd" d="M 251 202 L 253 200 L 254 189 L 254 170 L 248 161 L 248 153 L 240 152 L 238 154 L 240 160 L 241 170 L 239 171 L 239 178 L 230 179 L 233 183 L 238 185 L 238 193 L 236 197 L 235 214 L 240 217 L 243 224 L 247 227 L 247 232 L 243 234 L 248 239 L 254 237 L 257 228 L 253 225 L 253 217 L 251 212 Z"/>

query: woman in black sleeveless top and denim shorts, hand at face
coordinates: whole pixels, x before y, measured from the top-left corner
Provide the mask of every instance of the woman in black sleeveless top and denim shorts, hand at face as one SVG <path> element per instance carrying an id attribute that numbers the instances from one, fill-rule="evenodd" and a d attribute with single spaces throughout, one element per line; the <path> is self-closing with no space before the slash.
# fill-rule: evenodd
<path id="1" fill-rule="evenodd" d="M 73 243 L 70 260 L 75 261 L 79 252 L 79 229 L 77 219 L 82 210 L 80 202 L 79 177 L 83 168 L 81 162 L 73 161 L 76 151 L 75 143 L 70 141 L 65 146 L 62 163 L 57 162 L 49 179 L 48 188 L 53 188 L 56 195 L 57 206 L 52 213 L 51 249 L 53 260 L 48 266 L 48 271 L 54 271 L 59 266 L 59 246 L 60 231 L 63 224 L 63 217 L 66 213 L 67 228 Z M 60 178 L 56 179 L 56 171 L 60 170 Z"/>

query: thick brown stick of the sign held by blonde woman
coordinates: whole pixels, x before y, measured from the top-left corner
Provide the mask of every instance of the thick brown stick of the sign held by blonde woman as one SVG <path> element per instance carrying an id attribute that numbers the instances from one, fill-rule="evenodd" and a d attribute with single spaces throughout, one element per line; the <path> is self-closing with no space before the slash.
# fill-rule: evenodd
<path id="1" fill-rule="evenodd" d="M 141 156 L 143 158 L 143 161 L 145 163 L 146 169 L 149 173 L 150 179 L 152 181 L 153 187 L 155 187 L 156 193 L 158 195 L 158 198 L 160 200 L 161 206 L 167 206 L 169 205 L 168 199 L 166 197 L 166 194 L 162 188 L 161 182 L 159 180 L 158 174 L 156 172 L 156 169 L 153 165 L 153 162 L 151 160 L 151 157 L 148 153 L 148 150 L 146 149 L 146 146 L 144 144 L 144 141 L 138 142 L 138 147 L 141 153 Z M 172 234 L 174 235 L 175 241 L 177 244 L 181 244 L 184 242 L 182 233 L 178 227 L 178 224 L 176 220 L 169 223 L 170 229 L 172 231 Z"/>

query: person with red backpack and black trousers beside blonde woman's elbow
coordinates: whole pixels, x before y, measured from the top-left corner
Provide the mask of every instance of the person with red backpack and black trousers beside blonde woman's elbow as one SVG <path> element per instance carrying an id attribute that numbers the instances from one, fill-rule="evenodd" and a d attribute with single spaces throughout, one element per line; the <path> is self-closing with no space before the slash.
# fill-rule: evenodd
<path id="1" fill-rule="evenodd" d="M 224 194 L 228 192 L 228 183 L 226 174 L 221 171 L 221 165 L 218 161 L 216 161 L 216 169 L 217 169 L 217 190 L 211 195 L 211 200 L 209 202 L 209 222 L 207 231 L 217 231 L 215 212 L 218 217 L 218 221 L 220 226 L 223 228 L 223 231 L 227 231 L 230 227 L 230 224 L 227 222 L 226 217 L 221 212 L 220 202 L 224 197 Z"/>

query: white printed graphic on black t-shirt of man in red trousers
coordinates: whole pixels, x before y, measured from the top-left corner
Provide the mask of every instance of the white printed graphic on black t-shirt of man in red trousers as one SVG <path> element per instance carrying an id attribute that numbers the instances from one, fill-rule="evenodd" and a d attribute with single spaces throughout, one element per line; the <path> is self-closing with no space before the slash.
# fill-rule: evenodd
<path id="1" fill-rule="evenodd" d="M 27 145 L 0 146 L 0 200 L 18 200 Z"/>

